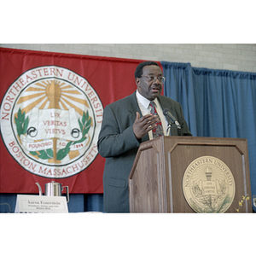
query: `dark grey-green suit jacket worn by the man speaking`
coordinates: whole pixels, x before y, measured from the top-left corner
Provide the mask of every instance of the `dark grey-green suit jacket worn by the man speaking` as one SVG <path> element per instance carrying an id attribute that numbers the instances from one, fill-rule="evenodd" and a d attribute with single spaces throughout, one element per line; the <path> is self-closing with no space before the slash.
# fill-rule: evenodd
<path id="1" fill-rule="evenodd" d="M 172 135 L 192 136 L 181 105 L 166 96 L 158 99 L 161 107 L 170 110 L 182 126 L 179 132 L 172 129 Z M 147 134 L 137 140 L 133 133 L 136 112 L 143 115 L 136 92 L 104 108 L 97 146 L 99 154 L 106 158 L 103 174 L 105 212 L 129 212 L 128 177 L 140 143 L 149 139 Z"/>

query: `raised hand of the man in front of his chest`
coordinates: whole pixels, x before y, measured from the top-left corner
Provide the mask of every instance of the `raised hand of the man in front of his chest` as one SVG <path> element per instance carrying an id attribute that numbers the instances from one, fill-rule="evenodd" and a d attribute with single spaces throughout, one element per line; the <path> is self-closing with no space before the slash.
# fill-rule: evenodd
<path id="1" fill-rule="evenodd" d="M 133 132 L 137 139 L 145 136 L 148 131 L 153 130 L 157 125 L 155 123 L 159 122 L 156 115 L 152 113 L 146 114 L 140 118 L 140 113 L 136 113 L 136 119 L 132 125 Z"/>

